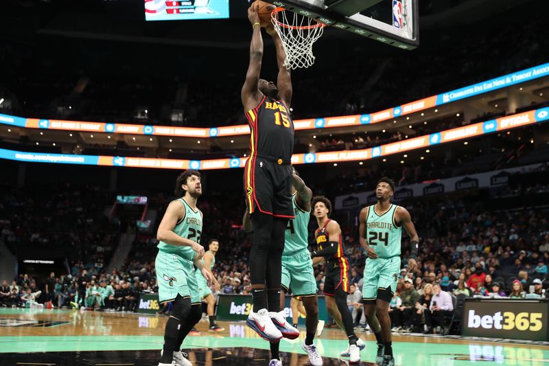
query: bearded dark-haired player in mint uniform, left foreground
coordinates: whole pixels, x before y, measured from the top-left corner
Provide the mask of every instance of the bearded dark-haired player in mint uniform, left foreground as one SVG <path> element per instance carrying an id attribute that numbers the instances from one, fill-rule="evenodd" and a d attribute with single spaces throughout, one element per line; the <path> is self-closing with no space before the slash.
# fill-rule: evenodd
<path id="1" fill-rule="evenodd" d="M 175 193 L 180 198 L 168 205 L 156 233 L 156 238 L 160 240 L 155 262 L 159 301 L 174 301 L 172 315 L 167 319 L 164 331 L 159 366 L 191 366 L 180 352 L 180 347 L 202 316 L 194 266 L 200 269 L 207 284 L 213 281 L 211 273 L 200 261 L 204 255 L 204 248 L 200 245 L 202 211 L 196 207 L 196 201 L 202 194 L 200 173 L 187 170 L 180 174 Z"/>

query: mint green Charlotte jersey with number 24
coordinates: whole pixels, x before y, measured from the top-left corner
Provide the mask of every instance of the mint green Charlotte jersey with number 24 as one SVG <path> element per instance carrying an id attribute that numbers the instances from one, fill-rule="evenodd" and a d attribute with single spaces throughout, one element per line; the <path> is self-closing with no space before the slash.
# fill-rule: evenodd
<path id="1" fill-rule="evenodd" d="M 366 217 L 366 241 L 379 258 L 400 256 L 402 228 L 395 222 L 397 205 L 390 205 L 384 214 L 377 214 L 375 205 L 368 209 Z"/>

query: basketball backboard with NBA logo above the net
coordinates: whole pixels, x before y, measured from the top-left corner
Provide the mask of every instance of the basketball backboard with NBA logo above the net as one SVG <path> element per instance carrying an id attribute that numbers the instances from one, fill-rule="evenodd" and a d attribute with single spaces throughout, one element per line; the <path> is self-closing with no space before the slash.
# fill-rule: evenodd
<path id="1" fill-rule="evenodd" d="M 418 0 L 267 0 L 330 27 L 401 49 L 419 45 Z"/>

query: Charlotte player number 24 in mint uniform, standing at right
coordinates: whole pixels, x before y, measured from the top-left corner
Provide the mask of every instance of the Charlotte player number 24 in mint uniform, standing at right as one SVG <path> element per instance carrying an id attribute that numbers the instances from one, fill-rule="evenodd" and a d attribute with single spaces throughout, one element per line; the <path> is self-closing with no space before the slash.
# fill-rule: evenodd
<path id="1" fill-rule="evenodd" d="M 364 313 L 377 339 L 375 362 L 383 366 L 395 365 L 390 333 L 389 303 L 395 294 L 400 273 L 400 244 L 402 227 L 410 236 L 412 253 L 408 271 L 417 269 L 419 238 L 410 213 L 390 203 L 395 183 L 384 177 L 375 187 L 377 203 L 360 211 L 360 245 L 366 251 L 362 301 Z"/>

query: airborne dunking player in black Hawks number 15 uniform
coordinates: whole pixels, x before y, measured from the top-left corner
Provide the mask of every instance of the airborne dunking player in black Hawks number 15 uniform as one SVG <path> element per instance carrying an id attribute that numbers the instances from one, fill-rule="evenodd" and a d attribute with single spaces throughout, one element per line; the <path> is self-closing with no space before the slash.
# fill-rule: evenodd
<path id="1" fill-rule="evenodd" d="M 283 66 L 285 51 L 272 27 L 279 67 L 277 85 L 259 79 L 263 38 L 258 15 L 259 4 L 248 9 L 253 36 L 250 65 L 242 87 L 242 104 L 250 124 L 250 158 L 244 169 L 246 208 L 254 228 L 250 251 L 250 282 L 253 310 L 246 323 L 268 341 L 279 341 L 283 334 L 296 331 L 280 313 L 281 258 L 284 231 L 292 210 L 292 152 L 294 124 L 290 118 L 292 81 Z M 268 310 L 267 310 L 268 309 Z M 272 319 L 275 321 L 273 323 Z"/>

